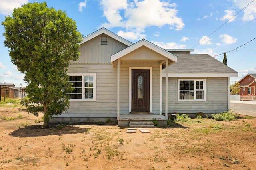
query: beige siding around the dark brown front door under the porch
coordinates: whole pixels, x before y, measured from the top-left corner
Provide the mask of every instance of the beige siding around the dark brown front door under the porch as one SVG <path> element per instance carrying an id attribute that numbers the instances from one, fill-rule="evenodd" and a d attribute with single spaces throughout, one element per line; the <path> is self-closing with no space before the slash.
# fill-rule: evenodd
<path id="1" fill-rule="evenodd" d="M 129 67 L 152 67 L 152 114 L 160 114 L 159 65 L 120 65 L 120 114 L 129 113 Z"/>

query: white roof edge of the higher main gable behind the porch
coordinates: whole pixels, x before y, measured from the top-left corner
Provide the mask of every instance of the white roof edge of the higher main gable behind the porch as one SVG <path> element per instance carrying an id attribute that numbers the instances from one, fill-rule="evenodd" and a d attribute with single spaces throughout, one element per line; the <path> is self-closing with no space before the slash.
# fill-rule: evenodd
<path id="1" fill-rule="evenodd" d="M 130 46 L 133 44 L 132 42 L 129 42 L 128 40 L 118 36 L 117 34 L 111 32 L 110 30 L 107 30 L 106 28 L 103 27 L 103 28 L 100 28 L 100 30 L 97 30 L 96 32 L 89 34 L 88 36 L 85 36 L 83 38 L 82 42 L 80 43 L 80 45 L 82 43 L 85 43 L 85 42 L 91 40 L 92 38 L 95 38 L 96 36 L 99 36 L 100 34 L 106 34 L 106 35 L 118 40 L 119 42 L 124 43 L 127 46 Z"/>

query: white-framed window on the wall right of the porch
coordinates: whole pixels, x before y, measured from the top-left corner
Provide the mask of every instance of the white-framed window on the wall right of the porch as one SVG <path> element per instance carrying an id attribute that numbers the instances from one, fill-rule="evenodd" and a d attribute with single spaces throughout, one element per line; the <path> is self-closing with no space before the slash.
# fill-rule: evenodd
<path id="1" fill-rule="evenodd" d="M 178 101 L 206 101 L 206 79 L 178 79 Z"/>

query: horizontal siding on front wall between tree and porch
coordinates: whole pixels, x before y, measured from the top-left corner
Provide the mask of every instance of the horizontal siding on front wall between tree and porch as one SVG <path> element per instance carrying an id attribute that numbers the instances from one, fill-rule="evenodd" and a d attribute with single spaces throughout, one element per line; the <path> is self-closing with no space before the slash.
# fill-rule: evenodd
<path id="1" fill-rule="evenodd" d="M 117 117 L 116 68 L 111 64 L 70 65 L 68 73 L 96 73 L 97 77 L 96 101 L 70 101 L 70 117 L 72 114 L 84 114 L 86 117 Z"/>

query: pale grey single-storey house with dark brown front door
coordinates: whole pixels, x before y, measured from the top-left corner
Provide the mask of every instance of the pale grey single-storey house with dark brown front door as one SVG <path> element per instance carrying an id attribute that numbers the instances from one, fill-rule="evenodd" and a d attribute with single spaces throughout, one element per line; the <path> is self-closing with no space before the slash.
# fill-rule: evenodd
<path id="1" fill-rule="evenodd" d="M 191 51 L 162 49 L 144 39 L 131 43 L 101 28 L 83 39 L 79 59 L 70 61 L 75 90 L 68 112 L 50 121 L 111 119 L 126 126 L 132 120 L 156 119 L 166 125 L 165 113 L 228 110 L 229 77 L 237 72 L 210 55 Z"/>

